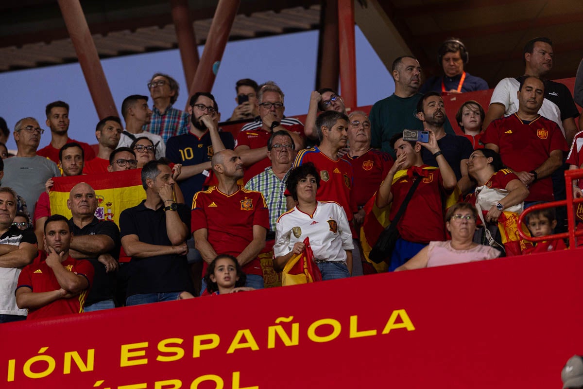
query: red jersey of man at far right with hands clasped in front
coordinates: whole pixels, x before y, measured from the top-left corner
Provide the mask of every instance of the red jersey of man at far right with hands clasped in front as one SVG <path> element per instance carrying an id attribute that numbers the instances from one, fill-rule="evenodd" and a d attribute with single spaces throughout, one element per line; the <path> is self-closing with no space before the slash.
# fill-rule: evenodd
<path id="1" fill-rule="evenodd" d="M 504 164 L 514 171 L 532 171 L 549 159 L 553 150 L 568 150 L 559 126 L 539 116 L 528 124 L 517 114 L 494 120 L 481 139 L 484 145 L 493 143 L 500 148 Z M 553 182 L 541 178 L 529 185 L 526 201 L 553 201 Z"/>

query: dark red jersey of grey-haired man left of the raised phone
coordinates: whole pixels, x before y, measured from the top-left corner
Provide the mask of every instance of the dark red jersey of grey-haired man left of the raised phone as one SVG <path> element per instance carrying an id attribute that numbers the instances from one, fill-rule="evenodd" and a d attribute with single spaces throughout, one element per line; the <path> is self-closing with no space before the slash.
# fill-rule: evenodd
<path id="1" fill-rule="evenodd" d="M 358 157 L 348 154 L 342 157 L 352 164 L 354 173 L 354 187 L 352 196 L 357 206 L 364 206 L 380 187 L 382 180 L 393 166 L 393 159 L 389 153 L 370 149 Z"/>

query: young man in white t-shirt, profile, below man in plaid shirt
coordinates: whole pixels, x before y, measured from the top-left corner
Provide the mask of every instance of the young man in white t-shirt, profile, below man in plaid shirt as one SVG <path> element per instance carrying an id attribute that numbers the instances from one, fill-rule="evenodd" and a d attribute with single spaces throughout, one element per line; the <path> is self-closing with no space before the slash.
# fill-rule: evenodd
<path id="1" fill-rule="evenodd" d="M 156 158 L 160 158 L 166 155 L 166 143 L 160 135 L 143 130 L 152 118 L 152 110 L 147 106 L 147 99 L 147 96 L 140 94 L 132 94 L 124 99 L 121 104 L 121 114 L 125 120 L 125 130 L 121 133 L 117 146 L 129 147 L 140 136 L 146 136 L 156 146 Z"/>

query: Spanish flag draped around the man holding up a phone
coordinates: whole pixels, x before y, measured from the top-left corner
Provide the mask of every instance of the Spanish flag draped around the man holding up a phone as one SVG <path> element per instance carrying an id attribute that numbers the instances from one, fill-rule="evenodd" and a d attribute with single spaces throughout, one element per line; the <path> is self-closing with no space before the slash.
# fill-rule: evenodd
<path id="1" fill-rule="evenodd" d="M 437 169 L 437 167 L 433 166 L 425 166 L 423 169 L 433 170 Z M 393 184 L 396 183 L 399 179 L 407 175 L 407 169 L 399 170 L 395 173 L 393 177 Z M 454 205 L 458 202 L 459 194 L 458 187 L 455 187 L 454 192 L 449 195 L 446 199 L 445 208 L 449 208 L 450 206 Z M 367 204 L 364 205 L 364 212 L 366 216 L 364 216 L 363 226 L 360 227 L 360 244 L 363 248 L 363 256 L 364 259 L 373 265 L 373 267 L 377 270 L 377 272 L 386 272 L 389 268 L 389 265 L 386 262 L 381 262 L 380 264 L 376 264 L 375 262 L 371 261 L 368 258 L 368 254 L 370 251 L 373 250 L 373 246 L 377 243 L 378 237 L 380 236 L 381 232 L 391 224 L 391 220 L 389 219 L 389 214 L 391 213 L 391 205 L 389 204 L 385 206 L 385 208 L 378 208 L 375 204 L 377 199 L 377 194 L 375 193 L 373 198 L 368 200 Z M 445 227 L 444 227 L 445 228 Z"/>

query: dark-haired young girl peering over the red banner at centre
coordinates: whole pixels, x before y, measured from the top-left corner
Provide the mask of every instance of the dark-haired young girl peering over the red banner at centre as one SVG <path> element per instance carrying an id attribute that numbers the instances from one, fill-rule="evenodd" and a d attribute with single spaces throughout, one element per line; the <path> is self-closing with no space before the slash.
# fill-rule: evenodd
<path id="1" fill-rule="evenodd" d="M 203 296 L 224 295 L 225 293 L 254 290 L 245 285 L 247 276 L 232 255 L 219 254 L 206 268 L 206 290 Z"/>

